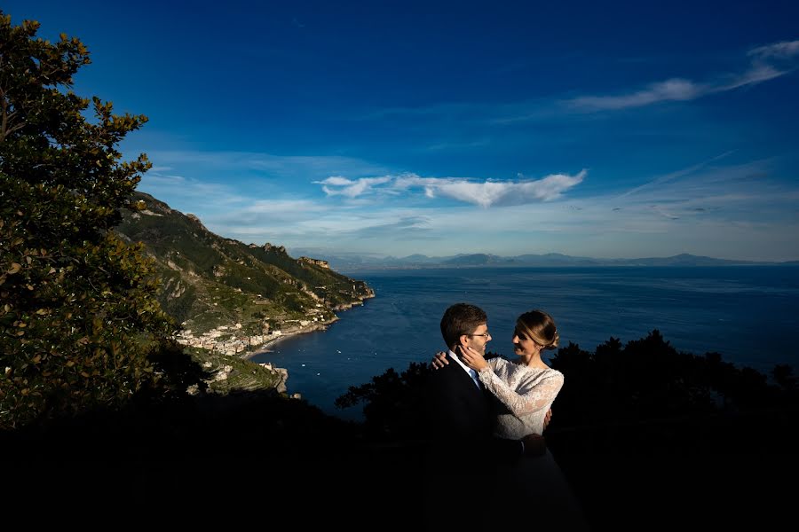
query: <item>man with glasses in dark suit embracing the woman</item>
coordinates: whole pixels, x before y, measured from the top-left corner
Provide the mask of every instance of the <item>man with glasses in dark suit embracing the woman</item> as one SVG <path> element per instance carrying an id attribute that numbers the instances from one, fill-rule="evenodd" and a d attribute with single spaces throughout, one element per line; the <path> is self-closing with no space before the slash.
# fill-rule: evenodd
<path id="1" fill-rule="evenodd" d="M 431 528 L 453 528 L 459 520 L 467 528 L 479 525 L 473 514 L 447 512 L 447 502 L 464 489 L 484 485 L 493 464 L 513 462 L 523 455 L 539 456 L 546 450 L 539 434 L 528 434 L 522 440 L 493 435 L 494 398 L 459 356 L 462 347 L 485 354 L 491 340 L 487 321 L 483 309 L 468 303 L 455 303 L 441 317 L 447 356 L 455 364 L 431 372 L 426 388 L 430 436 L 427 515 Z"/>

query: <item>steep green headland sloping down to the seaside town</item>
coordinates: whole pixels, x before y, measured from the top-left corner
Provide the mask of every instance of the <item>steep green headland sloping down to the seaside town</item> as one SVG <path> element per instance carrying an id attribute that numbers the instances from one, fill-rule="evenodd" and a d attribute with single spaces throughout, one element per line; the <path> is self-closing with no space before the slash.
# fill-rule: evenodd
<path id="1" fill-rule="evenodd" d="M 136 192 L 136 199 L 146 209 L 123 212 L 115 231 L 144 244 L 162 281 L 162 308 L 194 332 L 235 324 L 250 334 L 321 325 L 334 321 L 336 310 L 374 296 L 366 283 L 326 261 L 225 239 L 148 194 Z"/>

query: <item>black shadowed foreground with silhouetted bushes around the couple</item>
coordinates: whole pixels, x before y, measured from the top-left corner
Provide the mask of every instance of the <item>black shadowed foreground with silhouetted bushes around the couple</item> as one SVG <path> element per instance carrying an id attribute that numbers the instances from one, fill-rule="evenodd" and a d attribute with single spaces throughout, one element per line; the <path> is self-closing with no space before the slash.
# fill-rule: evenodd
<path id="1" fill-rule="evenodd" d="M 566 386 L 545 435 L 592 528 L 770 528 L 791 519 L 799 402 L 787 368 L 769 383 L 713 354 L 677 353 L 657 332 L 595 353 L 562 348 L 552 363 Z M 411 364 L 352 387 L 340 403 L 365 403 L 358 424 L 249 392 L 5 433 L 3 500 L 64 509 L 50 513 L 62 524 L 423 529 L 418 397 L 429 371 Z M 564 529 L 557 509 L 514 495 L 466 483 L 441 494 L 441 511 L 465 508 L 479 523 L 516 508 L 520 527 Z"/>

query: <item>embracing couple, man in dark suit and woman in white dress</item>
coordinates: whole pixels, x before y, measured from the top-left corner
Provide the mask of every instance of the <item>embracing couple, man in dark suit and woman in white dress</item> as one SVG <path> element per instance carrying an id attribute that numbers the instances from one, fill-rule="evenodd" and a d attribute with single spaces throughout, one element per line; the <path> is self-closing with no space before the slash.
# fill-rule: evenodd
<path id="1" fill-rule="evenodd" d="M 587 529 L 542 435 L 564 383 L 541 356 L 558 347 L 552 317 L 541 310 L 518 317 L 512 361 L 485 358 L 492 338 L 485 311 L 474 305 L 449 307 L 441 334 L 447 352 L 433 359 L 425 398 L 429 529 Z"/>

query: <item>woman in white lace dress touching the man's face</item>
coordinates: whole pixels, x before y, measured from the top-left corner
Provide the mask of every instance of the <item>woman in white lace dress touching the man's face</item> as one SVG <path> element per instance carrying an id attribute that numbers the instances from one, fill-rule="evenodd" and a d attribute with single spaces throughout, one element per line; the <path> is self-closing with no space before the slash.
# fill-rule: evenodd
<path id="1" fill-rule="evenodd" d="M 555 321 L 542 310 L 531 310 L 518 317 L 513 332 L 513 352 L 518 359 L 501 356 L 486 359 L 472 348 L 460 348 L 463 364 L 478 373 L 480 382 L 496 398 L 494 434 L 519 440 L 526 434 L 542 434 L 547 414 L 563 387 L 563 373 L 542 360 L 541 353 L 558 347 L 560 335 Z M 448 364 L 438 353 L 433 366 Z M 477 458 L 485 459 L 485 458 Z M 490 458 L 489 458 L 490 459 Z M 513 499 L 525 500 L 539 515 L 550 516 L 558 529 L 588 528 L 565 476 L 550 450 L 542 457 L 524 457 L 513 465 L 493 464 L 495 489 L 507 490 Z M 529 523 L 529 515 L 508 515 Z M 526 520 L 526 521 L 525 521 Z M 569 522 L 566 522 L 569 521 Z M 541 521 L 539 521 L 541 522 Z"/>

